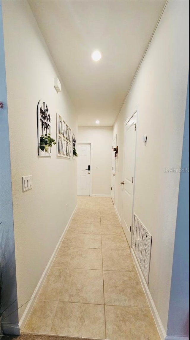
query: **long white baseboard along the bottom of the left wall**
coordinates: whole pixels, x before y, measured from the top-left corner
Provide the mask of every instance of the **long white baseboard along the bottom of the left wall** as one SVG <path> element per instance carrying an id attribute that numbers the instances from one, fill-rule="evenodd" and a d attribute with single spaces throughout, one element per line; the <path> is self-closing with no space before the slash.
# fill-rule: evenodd
<path id="1" fill-rule="evenodd" d="M 22 329 L 25 326 L 25 323 L 27 322 L 27 319 L 28 319 L 29 314 L 30 314 L 30 312 L 32 310 L 32 307 L 34 306 L 36 298 L 37 298 L 37 296 L 39 294 L 39 291 L 40 291 L 40 289 L 41 289 L 41 287 L 42 287 L 42 285 L 43 285 L 43 283 L 44 283 L 44 281 L 46 279 L 46 276 L 47 276 L 47 274 L 48 274 L 48 272 L 49 272 L 49 270 L 51 268 L 51 265 L 52 265 L 52 263 L 54 261 L 54 258 L 57 255 L 59 247 L 60 247 L 60 245 L 62 243 L 62 240 L 64 238 L 64 235 L 65 235 L 65 233 L 66 233 L 66 231 L 67 231 L 67 229 L 68 229 L 68 227 L 70 225 L 70 222 L 71 222 L 72 217 L 73 217 L 73 215 L 74 215 L 74 213 L 76 211 L 76 208 L 77 208 L 77 205 L 76 205 L 76 207 L 74 208 L 74 210 L 72 212 L 72 215 L 71 215 L 71 217 L 70 217 L 70 219 L 69 219 L 69 221 L 68 221 L 68 223 L 66 225 L 66 228 L 65 228 L 62 236 L 60 237 L 60 239 L 59 239 L 59 241 L 58 241 L 58 243 L 57 243 L 57 245 L 55 247 L 55 250 L 54 250 L 54 252 L 53 252 L 53 254 L 52 254 L 52 256 L 51 256 L 51 258 L 50 258 L 50 260 L 49 260 L 49 262 L 48 262 L 48 264 L 47 264 L 47 266 L 46 266 L 46 268 L 45 268 L 45 270 L 43 272 L 43 274 L 41 275 L 41 278 L 40 278 L 40 280 L 39 280 L 39 282 L 38 282 L 38 284 L 37 284 L 37 286 L 36 286 L 36 288 L 34 290 L 34 293 L 31 296 L 31 299 L 30 299 L 30 301 L 29 301 L 29 303 L 27 305 L 27 308 L 25 309 L 25 311 L 24 311 L 24 313 L 23 313 L 23 315 L 22 315 L 22 317 L 21 317 L 21 319 L 19 321 L 19 328 L 20 329 Z"/>

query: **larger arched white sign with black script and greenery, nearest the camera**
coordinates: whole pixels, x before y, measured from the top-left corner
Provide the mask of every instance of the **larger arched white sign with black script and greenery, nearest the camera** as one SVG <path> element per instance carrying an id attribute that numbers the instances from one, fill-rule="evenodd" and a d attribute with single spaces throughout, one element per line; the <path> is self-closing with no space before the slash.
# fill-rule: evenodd
<path id="1" fill-rule="evenodd" d="M 51 148 L 56 144 L 51 137 L 51 118 L 46 102 L 39 101 L 37 105 L 38 124 L 38 155 L 51 157 Z"/>

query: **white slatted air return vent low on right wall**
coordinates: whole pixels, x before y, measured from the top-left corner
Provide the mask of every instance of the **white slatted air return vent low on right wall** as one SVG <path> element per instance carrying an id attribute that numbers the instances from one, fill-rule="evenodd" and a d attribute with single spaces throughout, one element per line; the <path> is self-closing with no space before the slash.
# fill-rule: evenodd
<path id="1" fill-rule="evenodd" d="M 149 282 L 152 236 L 134 214 L 132 248 L 140 264 L 146 282 Z"/>

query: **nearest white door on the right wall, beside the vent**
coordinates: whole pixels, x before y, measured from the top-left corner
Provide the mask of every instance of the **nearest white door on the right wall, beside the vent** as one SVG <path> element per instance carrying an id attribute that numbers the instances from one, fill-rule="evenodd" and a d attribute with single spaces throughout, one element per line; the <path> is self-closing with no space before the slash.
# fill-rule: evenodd
<path id="1" fill-rule="evenodd" d="M 137 113 L 124 126 L 122 227 L 131 247 Z"/>

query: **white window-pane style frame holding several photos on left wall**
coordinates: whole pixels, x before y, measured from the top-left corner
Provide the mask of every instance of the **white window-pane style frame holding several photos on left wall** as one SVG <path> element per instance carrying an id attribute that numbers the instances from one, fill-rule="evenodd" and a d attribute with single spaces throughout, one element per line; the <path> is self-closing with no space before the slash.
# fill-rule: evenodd
<path id="1" fill-rule="evenodd" d="M 57 156 L 72 157 L 71 128 L 61 115 L 57 113 Z"/>

